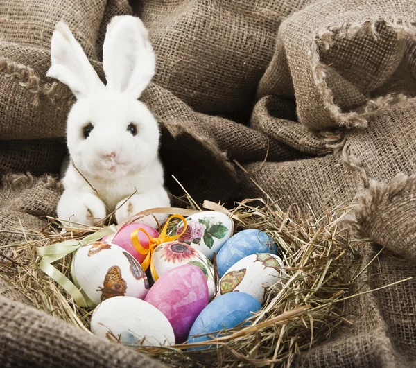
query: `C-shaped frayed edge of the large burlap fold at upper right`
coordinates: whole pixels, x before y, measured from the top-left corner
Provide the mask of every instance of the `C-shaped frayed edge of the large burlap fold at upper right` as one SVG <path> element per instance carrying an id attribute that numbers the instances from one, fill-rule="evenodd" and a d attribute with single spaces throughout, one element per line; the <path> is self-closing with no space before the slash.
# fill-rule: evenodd
<path id="1" fill-rule="evenodd" d="M 315 83 L 318 94 L 320 94 L 324 107 L 329 111 L 330 116 L 334 121 L 337 121 L 341 126 L 366 128 L 367 119 L 372 116 L 379 109 L 388 105 L 397 103 L 396 98 L 405 100 L 406 96 L 386 95 L 376 100 L 369 100 L 367 104 L 354 112 L 342 112 L 340 107 L 333 102 L 333 92 L 329 88 L 326 80 L 329 66 L 320 61 L 319 47 L 323 46 L 328 50 L 336 41 L 342 39 L 351 39 L 358 33 L 367 33 L 378 39 L 379 35 L 376 32 L 376 24 L 384 22 L 386 26 L 396 32 L 397 38 L 411 37 L 416 39 L 416 27 L 411 24 L 409 20 L 401 19 L 367 19 L 362 23 L 340 24 L 338 26 L 328 26 L 315 36 L 309 48 L 309 58 L 311 60 L 312 78 Z"/>

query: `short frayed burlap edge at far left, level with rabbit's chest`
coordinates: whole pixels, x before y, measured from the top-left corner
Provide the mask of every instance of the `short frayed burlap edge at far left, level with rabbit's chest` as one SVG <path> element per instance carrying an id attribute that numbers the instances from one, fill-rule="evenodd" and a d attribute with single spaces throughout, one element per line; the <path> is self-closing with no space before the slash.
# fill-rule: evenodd
<path id="1" fill-rule="evenodd" d="M 31 173 L 8 173 L 1 178 L 1 186 L 6 189 L 23 191 L 24 189 L 32 188 L 36 184 L 42 184 L 45 188 L 56 191 L 63 190 L 58 178 L 51 175 L 33 177 Z"/>

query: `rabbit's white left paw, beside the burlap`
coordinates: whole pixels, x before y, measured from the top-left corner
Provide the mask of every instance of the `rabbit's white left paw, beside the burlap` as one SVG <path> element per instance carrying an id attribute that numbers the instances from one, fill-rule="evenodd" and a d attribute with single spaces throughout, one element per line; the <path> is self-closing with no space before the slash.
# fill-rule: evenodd
<path id="1" fill-rule="evenodd" d="M 74 227 L 94 226 L 105 218 L 104 202 L 92 193 L 64 191 L 57 207 L 58 218 L 69 221 Z M 67 224 L 67 222 L 64 222 Z"/>

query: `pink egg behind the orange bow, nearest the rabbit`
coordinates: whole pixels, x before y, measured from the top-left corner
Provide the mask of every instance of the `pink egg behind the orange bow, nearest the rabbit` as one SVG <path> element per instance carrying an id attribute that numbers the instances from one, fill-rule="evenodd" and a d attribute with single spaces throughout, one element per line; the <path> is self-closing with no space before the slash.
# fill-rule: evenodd
<path id="1" fill-rule="evenodd" d="M 132 243 L 132 236 L 138 237 L 141 246 L 145 249 L 149 249 L 149 238 L 143 231 L 137 231 L 136 234 L 132 234 L 133 231 L 137 229 L 143 229 L 149 234 L 151 238 L 159 237 L 159 233 L 150 225 L 145 223 L 132 222 L 131 224 L 123 225 L 123 227 L 121 227 L 121 229 L 119 229 L 116 234 L 105 236 L 102 241 L 107 241 L 107 243 L 119 245 L 119 247 L 129 252 L 141 264 L 144 261 L 146 255 L 137 252 Z"/>

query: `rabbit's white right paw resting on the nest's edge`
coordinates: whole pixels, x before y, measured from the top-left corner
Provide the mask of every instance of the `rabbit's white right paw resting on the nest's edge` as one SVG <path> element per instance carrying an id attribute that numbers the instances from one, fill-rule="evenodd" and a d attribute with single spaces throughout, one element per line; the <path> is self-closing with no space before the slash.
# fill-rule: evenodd
<path id="1" fill-rule="evenodd" d="M 120 207 L 116 211 L 116 221 L 118 224 L 127 220 L 130 216 L 134 216 L 136 213 L 140 211 L 144 211 L 146 209 L 151 209 L 155 207 L 169 207 L 170 202 L 166 191 L 163 190 L 164 193 L 159 193 L 159 195 L 148 195 L 145 194 L 135 194 L 125 202 L 122 200 L 117 204 L 117 207 Z M 123 204 L 123 202 L 125 202 Z M 146 222 L 151 227 L 157 229 L 159 225 L 162 225 L 163 222 L 166 221 L 168 216 L 166 213 L 155 213 L 154 215 L 144 216 L 140 220 Z M 159 222 L 159 224 L 158 224 Z"/>

